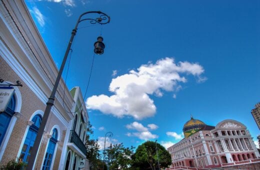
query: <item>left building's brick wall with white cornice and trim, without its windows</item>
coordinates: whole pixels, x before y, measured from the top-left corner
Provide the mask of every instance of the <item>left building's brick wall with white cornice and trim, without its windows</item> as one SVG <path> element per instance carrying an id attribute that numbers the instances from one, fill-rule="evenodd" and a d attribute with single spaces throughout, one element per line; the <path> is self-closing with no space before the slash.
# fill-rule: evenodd
<path id="1" fill-rule="evenodd" d="M 37 113 L 43 115 L 58 69 L 23 0 L 0 0 L 0 30 L 0 78 L 13 83 L 19 80 L 23 85 L 15 87 L 21 107 L 11 117 L 0 145 L 2 165 L 20 156 L 27 131 L 33 123 L 31 119 Z M 63 151 L 64 137 L 68 122 L 73 118 L 66 110 L 71 109 L 73 98 L 64 87 L 64 81 L 61 79 L 59 83 L 35 160 L 37 169 L 42 166 L 54 127 L 57 128 L 58 141 L 51 168 L 58 169 L 60 158 L 66 154 Z"/>

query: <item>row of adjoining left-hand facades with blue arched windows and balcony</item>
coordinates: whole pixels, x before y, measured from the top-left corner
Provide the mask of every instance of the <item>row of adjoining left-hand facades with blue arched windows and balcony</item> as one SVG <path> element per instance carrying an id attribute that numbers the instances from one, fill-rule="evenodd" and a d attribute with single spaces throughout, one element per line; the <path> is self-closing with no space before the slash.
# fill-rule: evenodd
<path id="1" fill-rule="evenodd" d="M 0 109 L 0 165 L 28 162 L 57 73 L 24 1 L 0 0 L 0 90 L 14 89 Z M 86 169 L 87 121 L 79 87 L 69 91 L 61 78 L 34 169 Z"/>

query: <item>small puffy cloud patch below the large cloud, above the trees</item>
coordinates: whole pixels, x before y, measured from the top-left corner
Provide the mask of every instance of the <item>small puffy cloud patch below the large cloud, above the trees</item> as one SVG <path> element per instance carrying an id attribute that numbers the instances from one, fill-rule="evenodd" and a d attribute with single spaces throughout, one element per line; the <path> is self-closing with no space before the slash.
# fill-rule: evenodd
<path id="1" fill-rule="evenodd" d="M 147 126 L 151 130 L 156 129 L 158 127 L 155 124 L 148 124 Z M 126 128 L 137 130 L 137 132 L 127 132 L 126 133 L 127 136 L 135 136 L 142 140 L 158 138 L 158 135 L 152 134 L 147 127 L 144 127 L 141 123 L 136 122 L 136 121 L 134 121 L 130 124 L 127 124 Z"/>

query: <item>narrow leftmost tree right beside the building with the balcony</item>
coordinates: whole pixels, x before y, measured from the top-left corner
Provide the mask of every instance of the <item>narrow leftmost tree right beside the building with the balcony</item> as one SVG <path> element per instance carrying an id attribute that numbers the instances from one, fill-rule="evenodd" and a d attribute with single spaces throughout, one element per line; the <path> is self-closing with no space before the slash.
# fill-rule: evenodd
<path id="1" fill-rule="evenodd" d="M 90 169 L 99 169 L 98 166 L 100 164 L 100 153 L 99 153 L 99 144 L 97 139 L 92 139 L 93 135 L 92 125 L 90 122 L 87 122 L 86 128 L 86 138 L 85 138 L 85 146 L 86 146 L 86 158 L 89 160 Z M 102 167 L 102 166 L 101 166 Z"/>

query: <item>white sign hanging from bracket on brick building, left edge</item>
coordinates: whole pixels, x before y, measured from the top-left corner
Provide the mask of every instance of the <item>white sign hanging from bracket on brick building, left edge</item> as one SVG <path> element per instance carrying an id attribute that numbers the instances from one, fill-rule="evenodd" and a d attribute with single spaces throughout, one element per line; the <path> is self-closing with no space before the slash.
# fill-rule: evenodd
<path id="1" fill-rule="evenodd" d="M 0 87 L 0 111 L 4 111 L 6 109 L 13 91 L 14 89 L 12 87 Z"/>

